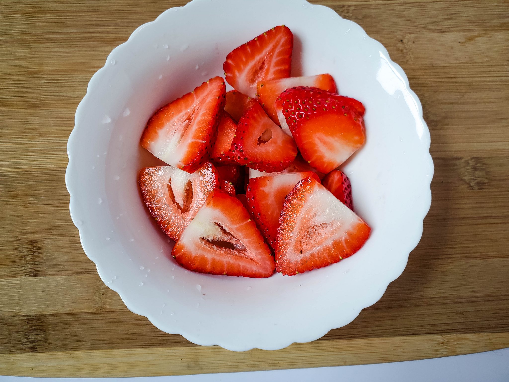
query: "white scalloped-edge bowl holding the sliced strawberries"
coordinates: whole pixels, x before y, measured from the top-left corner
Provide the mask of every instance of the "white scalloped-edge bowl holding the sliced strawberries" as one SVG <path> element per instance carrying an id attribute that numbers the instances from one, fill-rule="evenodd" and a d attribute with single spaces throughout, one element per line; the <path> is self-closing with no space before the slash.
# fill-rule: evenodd
<path id="1" fill-rule="evenodd" d="M 159 107 L 223 75 L 232 49 L 279 24 L 295 37 L 294 76 L 330 73 L 366 107 L 366 144 L 344 171 L 373 231 L 351 258 L 302 275 L 187 271 L 140 199 L 138 171 L 160 163 L 140 135 Z M 94 74 L 69 137 L 66 184 L 83 250 L 131 311 L 196 344 L 280 349 L 348 324 L 401 274 L 431 203 L 429 146 L 405 73 L 356 23 L 302 0 L 194 0 L 140 26 Z"/>

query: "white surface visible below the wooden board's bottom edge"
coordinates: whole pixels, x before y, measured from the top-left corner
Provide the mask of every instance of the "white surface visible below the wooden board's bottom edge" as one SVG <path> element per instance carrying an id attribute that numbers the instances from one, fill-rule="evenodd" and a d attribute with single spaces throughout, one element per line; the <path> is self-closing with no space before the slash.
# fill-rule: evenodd
<path id="1" fill-rule="evenodd" d="M 9 382 L 509 382 L 509 348 L 430 360 L 310 369 L 249 371 L 137 378 L 30 378 L 0 376 Z"/>

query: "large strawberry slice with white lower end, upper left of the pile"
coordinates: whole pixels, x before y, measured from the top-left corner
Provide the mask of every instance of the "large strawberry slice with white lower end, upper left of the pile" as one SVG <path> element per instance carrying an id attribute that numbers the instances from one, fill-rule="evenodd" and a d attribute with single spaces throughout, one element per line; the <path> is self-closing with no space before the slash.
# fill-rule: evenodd
<path id="1" fill-rule="evenodd" d="M 148 121 L 141 145 L 189 173 L 207 161 L 225 102 L 225 85 L 214 77 L 161 107 Z"/>

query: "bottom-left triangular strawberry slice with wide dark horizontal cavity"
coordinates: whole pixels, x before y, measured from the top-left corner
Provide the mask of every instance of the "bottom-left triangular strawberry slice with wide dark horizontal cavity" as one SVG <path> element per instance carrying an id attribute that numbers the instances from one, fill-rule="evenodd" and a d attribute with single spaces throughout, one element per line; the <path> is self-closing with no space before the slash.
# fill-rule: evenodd
<path id="1" fill-rule="evenodd" d="M 242 203 L 214 191 L 173 248 L 183 267 L 213 275 L 269 277 L 274 258 Z"/>

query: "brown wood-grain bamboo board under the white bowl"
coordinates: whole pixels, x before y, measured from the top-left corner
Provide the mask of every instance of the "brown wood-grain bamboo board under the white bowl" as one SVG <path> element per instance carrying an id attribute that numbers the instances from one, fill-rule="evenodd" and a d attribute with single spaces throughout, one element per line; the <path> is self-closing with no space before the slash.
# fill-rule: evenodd
<path id="1" fill-rule="evenodd" d="M 313 343 L 243 353 L 196 346 L 127 310 L 71 223 L 66 143 L 107 54 L 185 3 L 0 0 L 0 374 L 191 374 L 509 346 L 507 1 L 315 1 L 385 45 L 431 130 L 431 210 L 380 302 Z"/>

